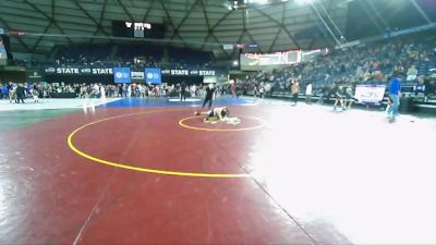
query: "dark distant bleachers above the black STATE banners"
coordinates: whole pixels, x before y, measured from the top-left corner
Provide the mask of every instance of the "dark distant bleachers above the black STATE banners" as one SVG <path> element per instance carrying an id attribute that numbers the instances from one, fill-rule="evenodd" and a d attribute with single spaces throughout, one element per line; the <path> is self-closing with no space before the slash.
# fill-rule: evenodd
<path id="1" fill-rule="evenodd" d="M 52 59 L 16 60 L 20 66 L 155 66 L 164 69 L 222 70 L 211 52 L 144 44 L 76 44 L 58 46 Z"/>

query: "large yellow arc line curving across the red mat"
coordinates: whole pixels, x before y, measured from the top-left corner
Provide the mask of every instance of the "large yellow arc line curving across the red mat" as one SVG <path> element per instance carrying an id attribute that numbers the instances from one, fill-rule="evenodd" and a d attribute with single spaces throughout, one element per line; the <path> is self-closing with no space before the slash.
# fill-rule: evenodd
<path id="1" fill-rule="evenodd" d="M 78 154 L 80 156 L 82 156 L 86 159 L 89 159 L 89 160 L 98 162 L 98 163 L 107 164 L 107 166 L 112 166 L 112 167 L 117 167 L 117 168 L 129 169 L 129 170 L 134 170 L 134 171 L 140 171 L 140 172 L 148 172 L 148 173 L 157 173 L 157 174 L 166 174 L 166 175 L 177 175 L 177 176 L 191 176 L 191 177 L 249 177 L 249 176 L 251 176 L 250 174 L 180 172 L 180 171 L 167 171 L 167 170 L 159 170 L 159 169 L 147 169 L 147 168 L 133 167 L 133 166 L 129 166 L 126 163 L 113 162 L 113 161 L 109 161 L 109 160 L 105 160 L 105 159 L 100 159 L 100 158 L 90 156 L 90 155 L 82 151 L 81 149 L 78 149 L 73 143 L 74 136 L 80 131 L 82 131 L 88 126 L 92 126 L 92 125 L 95 125 L 95 124 L 98 124 L 101 122 L 114 120 L 114 119 L 126 118 L 126 117 L 138 115 L 138 114 L 147 114 L 147 113 L 154 113 L 154 112 L 160 112 L 160 111 L 147 111 L 147 112 L 117 115 L 117 117 L 106 118 L 106 119 L 101 119 L 101 120 L 85 124 L 81 127 L 77 127 L 73 132 L 71 132 L 71 134 L 68 137 L 66 143 L 74 152 Z"/>

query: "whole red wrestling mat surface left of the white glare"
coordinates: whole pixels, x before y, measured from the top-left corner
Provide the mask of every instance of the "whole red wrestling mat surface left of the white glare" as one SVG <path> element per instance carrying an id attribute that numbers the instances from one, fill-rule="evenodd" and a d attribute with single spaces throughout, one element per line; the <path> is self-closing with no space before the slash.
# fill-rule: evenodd
<path id="1" fill-rule="evenodd" d="M 192 110 L 156 110 L 93 124 L 77 132 L 73 143 L 96 157 L 142 168 L 241 174 L 250 164 L 251 140 L 264 131 L 195 131 L 178 124 Z M 0 243 L 311 243 L 251 177 L 126 170 L 86 159 L 68 146 L 69 135 L 82 125 L 137 112 L 144 110 L 97 109 L 1 134 L 7 159 L 1 189 L 9 196 L 0 209 Z M 242 120 L 238 126 L 257 123 Z"/>

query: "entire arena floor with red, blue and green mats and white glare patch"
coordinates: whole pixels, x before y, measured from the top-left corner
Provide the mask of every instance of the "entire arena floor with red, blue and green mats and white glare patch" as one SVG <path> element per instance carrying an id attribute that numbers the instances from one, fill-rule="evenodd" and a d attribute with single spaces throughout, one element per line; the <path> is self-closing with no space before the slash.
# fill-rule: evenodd
<path id="1" fill-rule="evenodd" d="M 0 244 L 435 244 L 436 120 L 219 98 L 0 105 Z M 62 102 L 59 102 L 62 101 Z"/>

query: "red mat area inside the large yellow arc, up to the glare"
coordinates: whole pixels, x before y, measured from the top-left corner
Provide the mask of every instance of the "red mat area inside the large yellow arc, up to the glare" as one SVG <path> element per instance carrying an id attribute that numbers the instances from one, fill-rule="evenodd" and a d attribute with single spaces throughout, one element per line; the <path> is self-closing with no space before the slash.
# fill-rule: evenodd
<path id="1" fill-rule="evenodd" d="M 264 122 L 243 115 L 238 125 L 209 124 L 186 113 L 157 110 L 106 118 L 80 127 L 71 147 L 89 160 L 121 168 L 244 174 L 244 143 L 255 135 L 249 131 L 262 130 Z"/>

